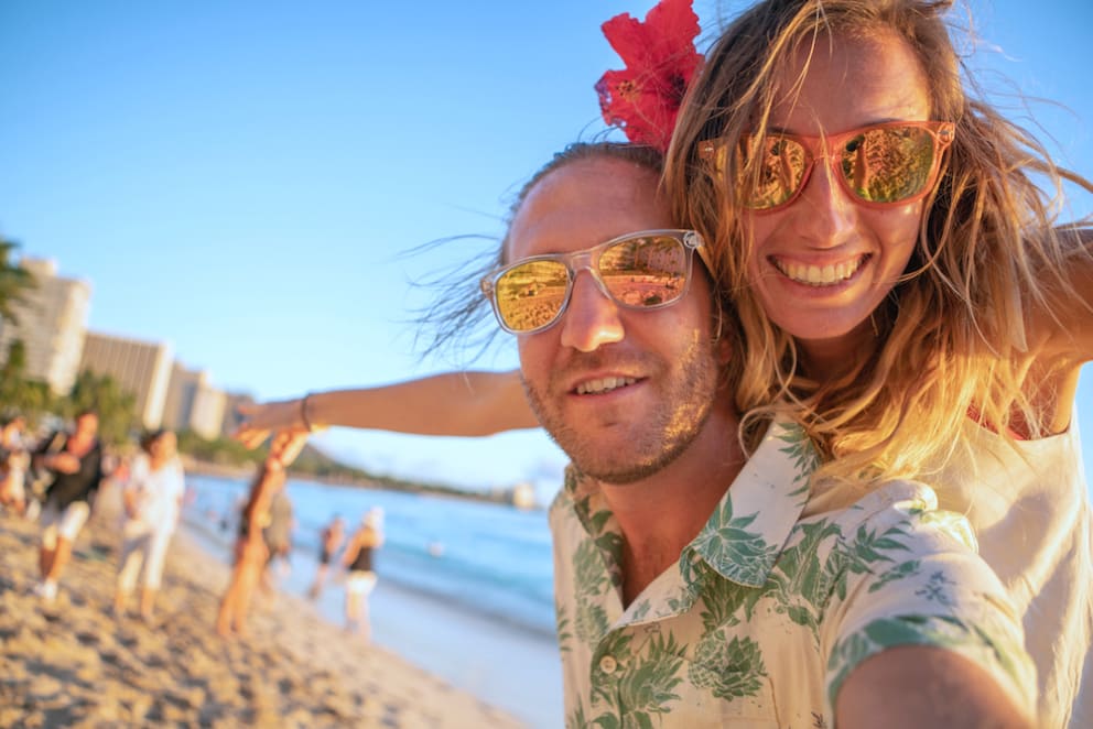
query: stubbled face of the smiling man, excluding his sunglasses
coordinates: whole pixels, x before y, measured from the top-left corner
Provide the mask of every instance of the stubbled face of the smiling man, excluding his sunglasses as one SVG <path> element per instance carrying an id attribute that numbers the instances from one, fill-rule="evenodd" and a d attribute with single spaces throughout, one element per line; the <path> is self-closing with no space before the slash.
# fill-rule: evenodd
<path id="1" fill-rule="evenodd" d="M 509 231 L 507 261 L 592 248 L 628 232 L 671 228 L 658 177 L 606 157 L 571 162 L 541 179 Z M 519 335 L 531 406 L 582 471 L 629 483 L 672 463 L 713 406 L 718 362 L 711 293 L 695 262 L 690 291 L 654 311 L 616 306 L 587 271 L 549 329 Z"/>

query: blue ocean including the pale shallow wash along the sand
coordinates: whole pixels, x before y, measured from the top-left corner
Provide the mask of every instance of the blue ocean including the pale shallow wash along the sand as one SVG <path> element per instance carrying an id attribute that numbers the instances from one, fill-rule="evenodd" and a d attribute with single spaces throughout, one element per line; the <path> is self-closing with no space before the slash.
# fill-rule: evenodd
<path id="1" fill-rule="evenodd" d="M 187 532 L 229 562 L 249 481 L 187 474 L 186 485 Z M 286 488 L 295 529 L 279 591 L 306 595 L 320 534 L 334 514 L 351 530 L 368 509 L 381 507 L 385 543 L 375 553 L 379 583 L 369 600 L 375 642 L 529 727 L 562 726 L 544 510 L 303 479 L 290 479 Z M 336 573 L 315 608 L 340 624 L 345 590 Z"/>

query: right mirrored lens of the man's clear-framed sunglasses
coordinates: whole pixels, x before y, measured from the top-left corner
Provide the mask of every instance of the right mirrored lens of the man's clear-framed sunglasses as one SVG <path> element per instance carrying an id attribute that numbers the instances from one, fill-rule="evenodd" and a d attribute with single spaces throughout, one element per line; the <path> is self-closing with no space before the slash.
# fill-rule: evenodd
<path id="1" fill-rule="evenodd" d="M 686 249 L 671 236 L 632 238 L 600 253 L 599 279 L 619 304 L 662 306 L 683 295 L 686 262 Z"/>

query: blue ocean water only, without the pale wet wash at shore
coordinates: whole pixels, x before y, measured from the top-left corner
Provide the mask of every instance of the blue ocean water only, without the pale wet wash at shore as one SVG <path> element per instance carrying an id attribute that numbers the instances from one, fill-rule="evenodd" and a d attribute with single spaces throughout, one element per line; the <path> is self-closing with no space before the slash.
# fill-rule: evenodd
<path id="1" fill-rule="evenodd" d="M 187 476 L 187 523 L 235 536 L 248 482 Z M 546 512 L 437 496 L 328 486 L 290 479 L 293 561 L 317 559 L 320 534 L 334 514 L 347 532 L 371 507 L 383 509 L 381 580 L 554 635 L 553 563 Z"/>

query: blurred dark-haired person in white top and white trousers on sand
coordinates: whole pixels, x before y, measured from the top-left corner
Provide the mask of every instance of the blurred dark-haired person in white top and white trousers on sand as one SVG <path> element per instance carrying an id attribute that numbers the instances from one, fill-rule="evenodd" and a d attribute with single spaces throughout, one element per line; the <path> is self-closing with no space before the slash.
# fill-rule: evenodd
<path id="1" fill-rule="evenodd" d="M 126 520 L 113 611 L 125 613 L 139 577 L 140 617 L 150 620 L 186 483 L 174 433 L 154 431 L 141 440 L 141 448 L 144 453 L 133 459 L 121 493 Z"/>

